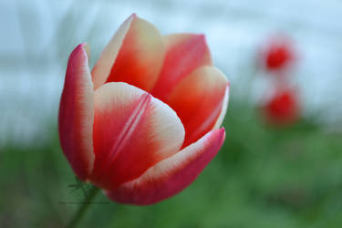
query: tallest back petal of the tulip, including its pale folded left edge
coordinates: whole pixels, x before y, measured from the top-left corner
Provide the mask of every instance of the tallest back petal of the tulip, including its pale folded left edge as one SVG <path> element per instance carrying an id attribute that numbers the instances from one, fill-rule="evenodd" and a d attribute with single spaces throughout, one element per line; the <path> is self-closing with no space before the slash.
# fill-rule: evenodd
<path id="1" fill-rule="evenodd" d="M 95 88 L 127 82 L 150 91 L 161 73 L 165 45 L 158 29 L 132 15 L 113 36 L 93 69 Z"/>

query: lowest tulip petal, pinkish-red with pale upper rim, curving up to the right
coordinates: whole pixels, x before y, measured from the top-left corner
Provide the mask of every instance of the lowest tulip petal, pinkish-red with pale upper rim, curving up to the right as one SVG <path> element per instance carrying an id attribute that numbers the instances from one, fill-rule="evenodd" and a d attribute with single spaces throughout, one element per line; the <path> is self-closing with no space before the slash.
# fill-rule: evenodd
<path id="1" fill-rule="evenodd" d="M 220 150 L 224 137 L 224 129 L 212 130 L 201 140 L 157 163 L 138 179 L 107 192 L 107 195 L 116 202 L 140 205 L 167 199 L 197 178 Z"/>

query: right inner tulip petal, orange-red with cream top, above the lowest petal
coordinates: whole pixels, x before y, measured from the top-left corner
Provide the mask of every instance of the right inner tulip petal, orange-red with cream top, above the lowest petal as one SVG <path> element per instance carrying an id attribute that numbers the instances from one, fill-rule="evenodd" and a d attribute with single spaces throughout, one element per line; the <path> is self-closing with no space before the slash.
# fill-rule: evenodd
<path id="1" fill-rule="evenodd" d="M 212 130 L 224 107 L 227 78 L 216 67 L 199 67 L 173 89 L 167 103 L 176 111 L 185 128 L 182 147 Z M 226 100 L 227 101 L 227 100 Z"/>

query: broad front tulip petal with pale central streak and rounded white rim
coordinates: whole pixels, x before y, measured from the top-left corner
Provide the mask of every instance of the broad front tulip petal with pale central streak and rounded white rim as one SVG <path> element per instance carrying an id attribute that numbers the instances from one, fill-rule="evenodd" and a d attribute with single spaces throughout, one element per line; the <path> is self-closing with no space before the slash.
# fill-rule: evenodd
<path id="1" fill-rule="evenodd" d="M 110 190 L 179 151 L 184 128 L 161 100 L 129 84 L 110 82 L 95 91 L 93 139 L 96 159 L 90 180 Z"/>

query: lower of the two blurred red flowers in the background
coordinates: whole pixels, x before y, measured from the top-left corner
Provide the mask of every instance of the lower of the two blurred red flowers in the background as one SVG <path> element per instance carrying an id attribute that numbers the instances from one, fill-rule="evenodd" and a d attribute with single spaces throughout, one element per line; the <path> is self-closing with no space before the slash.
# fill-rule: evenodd
<path id="1" fill-rule="evenodd" d="M 299 118 L 299 104 L 295 91 L 279 88 L 264 106 L 266 120 L 275 126 L 294 123 Z"/>

